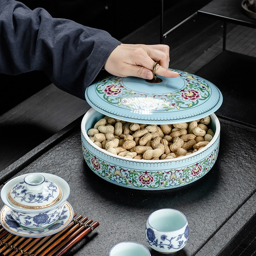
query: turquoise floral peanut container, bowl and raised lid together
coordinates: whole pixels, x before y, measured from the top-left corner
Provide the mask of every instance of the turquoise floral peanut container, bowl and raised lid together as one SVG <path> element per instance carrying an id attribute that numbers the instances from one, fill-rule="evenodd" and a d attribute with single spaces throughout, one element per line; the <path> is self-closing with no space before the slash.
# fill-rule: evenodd
<path id="1" fill-rule="evenodd" d="M 159 190 L 177 188 L 203 177 L 219 151 L 220 123 L 214 112 L 222 103 L 220 90 L 211 82 L 175 70 L 175 78 L 161 77 L 160 84 L 141 78 L 111 76 L 87 87 L 92 108 L 81 124 L 82 150 L 90 169 L 101 178 L 127 188 Z M 129 159 L 95 145 L 87 131 L 104 116 L 138 124 L 178 124 L 210 116 L 215 133 L 202 150 L 168 160 Z"/>

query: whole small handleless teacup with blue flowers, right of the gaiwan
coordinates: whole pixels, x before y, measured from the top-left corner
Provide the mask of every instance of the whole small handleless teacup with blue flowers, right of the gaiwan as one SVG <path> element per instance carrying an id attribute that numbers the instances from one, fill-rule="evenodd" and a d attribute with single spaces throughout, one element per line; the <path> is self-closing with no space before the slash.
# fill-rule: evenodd
<path id="1" fill-rule="evenodd" d="M 188 241 L 186 216 L 174 209 L 160 209 L 150 214 L 146 224 L 149 246 L 161 253 L 181 250 Z"/>

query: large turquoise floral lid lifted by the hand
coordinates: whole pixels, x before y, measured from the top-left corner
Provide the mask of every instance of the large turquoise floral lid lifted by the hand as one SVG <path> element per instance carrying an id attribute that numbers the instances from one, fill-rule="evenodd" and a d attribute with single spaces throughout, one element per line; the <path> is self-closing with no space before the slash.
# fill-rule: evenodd
<path id="1" fill-rule="evenodd" d="M 87 102 L 98 112 L 144 124 L 190 122 L 215 112 L 222 103 L 220 90 L 199 76 L 180 70 L 178 77 L 158 76 L 150 84 L 137 77 L 110 76 L 86 88 Z"/>

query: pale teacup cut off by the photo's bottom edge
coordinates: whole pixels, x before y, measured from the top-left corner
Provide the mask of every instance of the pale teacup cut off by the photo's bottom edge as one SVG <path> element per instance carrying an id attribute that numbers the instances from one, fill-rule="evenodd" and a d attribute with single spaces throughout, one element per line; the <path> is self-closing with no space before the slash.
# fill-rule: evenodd
<path id="1" fill-rule="evenodd" d="M 109 256 L 151 256 L 148 249 L 136 242 L 122 242 L 114 245 Z"/>

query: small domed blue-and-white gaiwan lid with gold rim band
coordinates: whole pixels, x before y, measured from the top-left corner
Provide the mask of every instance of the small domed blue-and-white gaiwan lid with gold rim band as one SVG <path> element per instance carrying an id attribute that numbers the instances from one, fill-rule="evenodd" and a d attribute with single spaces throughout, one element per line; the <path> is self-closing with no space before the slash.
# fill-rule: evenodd
<path id="1" fill-rule="evenodd" d="M 42 209 L 56 204 L 62 197 L 60 187 L 42 174 L 28 174 L 8 192 L 8 199 L 14 206 L 25 209 Z"/>

